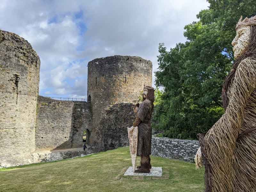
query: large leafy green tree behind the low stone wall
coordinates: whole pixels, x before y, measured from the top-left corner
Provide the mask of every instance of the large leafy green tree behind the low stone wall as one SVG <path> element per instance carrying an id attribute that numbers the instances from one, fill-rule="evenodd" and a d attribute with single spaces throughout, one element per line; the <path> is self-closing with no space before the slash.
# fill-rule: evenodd
<path id="1" fill-rule="evenodd" d="M 209 0 L 210 7 L 185 26 L 187 42 L 159 44 L 156 86 L 164 87 L 153 127 L 174 138 L 196 138 L 220 118 L 221 90 L 234 61 L 231 42 L 240 18 L 256 14 L 255 0 Z"/>

